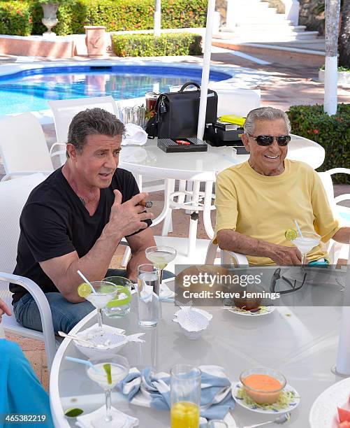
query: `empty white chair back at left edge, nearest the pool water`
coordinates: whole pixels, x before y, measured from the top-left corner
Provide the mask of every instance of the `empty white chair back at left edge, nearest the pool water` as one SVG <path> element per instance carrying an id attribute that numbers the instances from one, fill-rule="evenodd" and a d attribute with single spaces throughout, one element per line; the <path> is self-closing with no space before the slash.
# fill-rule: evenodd
<path id="1" fill-rule="evenodd" d="M 0 121 L 0 153 L 6 173 L 2 180 L 54 171 L 43 128 L 31 113 Z"/>

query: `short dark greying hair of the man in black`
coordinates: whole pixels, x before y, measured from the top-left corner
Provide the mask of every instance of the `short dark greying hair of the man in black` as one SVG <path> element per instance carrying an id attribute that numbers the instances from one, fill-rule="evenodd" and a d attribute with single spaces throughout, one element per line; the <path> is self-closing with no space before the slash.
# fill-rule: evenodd
<path id="1" fill-rule="evenodd" d="M 87 108 L 73 117 L 68 129 L 68 143 L 81 152 L 88 135 L 117 136 L 124 132 L 124 124 L 109 111 L 98 107 Z"/>

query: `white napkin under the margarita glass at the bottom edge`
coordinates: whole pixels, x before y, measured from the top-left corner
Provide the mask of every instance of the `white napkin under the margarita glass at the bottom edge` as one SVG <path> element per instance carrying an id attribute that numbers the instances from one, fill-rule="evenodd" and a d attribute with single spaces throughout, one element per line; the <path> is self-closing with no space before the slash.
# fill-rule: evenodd
<path id="1" fill-rule="evenodd" d="M 122 425 L 122 428 L 131 428 L 138 426 L 138 419 L 133 418 L 133 416 L 126 415 L 126 413 L 123 413 L 114 407 L 111 407 L 110 410 L 113 419 L 125 418 L 126 421 L 124 425 Z M 119 426 L 114 422 L 105 422 L 104 417 L 105 406 L 102 406 L 92 413 L 87 413 L 87 415 L 78 416 L 75 425 L 80 428 L 110 428 Z"/>

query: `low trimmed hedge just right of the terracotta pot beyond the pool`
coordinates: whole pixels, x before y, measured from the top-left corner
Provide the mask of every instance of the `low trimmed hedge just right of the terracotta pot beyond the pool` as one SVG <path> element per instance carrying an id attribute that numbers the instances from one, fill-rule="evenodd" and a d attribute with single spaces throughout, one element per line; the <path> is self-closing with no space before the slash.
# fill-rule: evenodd
<path id="1" fill-rule="evenodd" d="M 202 36 L 191 33 L 113 34 L 112 49 L 118 57 L 200 55 Z"/>

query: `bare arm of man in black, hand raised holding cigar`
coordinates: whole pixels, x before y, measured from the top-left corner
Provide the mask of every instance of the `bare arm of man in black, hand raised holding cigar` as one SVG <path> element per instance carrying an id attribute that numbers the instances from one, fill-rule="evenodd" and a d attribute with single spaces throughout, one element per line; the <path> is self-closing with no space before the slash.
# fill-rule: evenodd
<path id="1" fill-rule="evenodd" d="M 84 301 L 77 293 L 78 285 L 82 283 L 78 269 L 90 281 L 101 280 L 108 270 L 119 241 L 126 235 L 145 229 L 147 223 L 143 220 L 153 217 L 152 213 L 144 212 L 145 208 L 138 205 L 142 199 L 147 198 L 147 193 L 136 194 L 122 204 L 122 194 L 118 190 L 114 192 L 115 203 L 110 211 L 110 220 L 87 255 L 79 258 L 78 253 L 73 251 L 40 263 L 41 269 L 52 279 L 59 292 L 72 303 Z"/>

